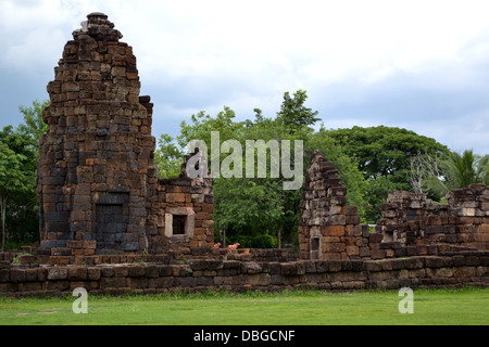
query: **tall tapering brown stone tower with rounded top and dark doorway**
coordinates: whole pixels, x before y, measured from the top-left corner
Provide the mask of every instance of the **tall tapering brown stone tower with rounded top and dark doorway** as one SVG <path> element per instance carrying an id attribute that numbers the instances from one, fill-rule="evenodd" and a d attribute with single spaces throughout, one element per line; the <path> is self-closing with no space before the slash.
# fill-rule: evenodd
<path id="1" fill-rule="evenodd" d="M 139 97 L 131 47 L 103 13 L 73 33 L 55 78 L 40 139 L 41 248 L 82 255 L 148 248 L 148 201 L 156 194 L 152 104 Z M 152 229 L 152 230 L 150 230 Z"/>

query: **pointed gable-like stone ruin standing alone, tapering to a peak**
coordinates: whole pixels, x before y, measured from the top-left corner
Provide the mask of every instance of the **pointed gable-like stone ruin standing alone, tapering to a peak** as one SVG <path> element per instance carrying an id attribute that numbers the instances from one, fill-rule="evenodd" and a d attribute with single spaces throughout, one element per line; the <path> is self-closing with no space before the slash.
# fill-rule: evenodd
<path id="1" fill-rule="evenodd" d="M 338 170 L 315 151 L 306 170 L 301 201 L 299 247 L 301 259 L 361 259 L 369 256 L 367 226 L 356 206 L 347 205 L 347 189 Z"/>

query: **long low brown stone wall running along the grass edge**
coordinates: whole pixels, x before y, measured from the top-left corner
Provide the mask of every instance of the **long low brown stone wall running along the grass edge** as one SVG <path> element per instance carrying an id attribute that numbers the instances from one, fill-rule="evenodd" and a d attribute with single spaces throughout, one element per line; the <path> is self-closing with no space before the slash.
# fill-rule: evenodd
<path id="1" fill-rule="evenodd" d="M 3 260 L 0 261 L 0 295 L 71 295 L 76 287 L 86 288 L 90 295 L 208 290 L 487 287 L 488 269 L 488 252 L 384 260 L 255 262 L 193 259 L 180 265 L 49 266 L 12 265 Z"/>

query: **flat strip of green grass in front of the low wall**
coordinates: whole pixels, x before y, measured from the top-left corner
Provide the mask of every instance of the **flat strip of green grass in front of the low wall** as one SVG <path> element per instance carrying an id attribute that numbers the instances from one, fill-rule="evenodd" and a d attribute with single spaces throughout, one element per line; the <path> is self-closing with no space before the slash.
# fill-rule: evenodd
<path id="1" fill-rule="evenodd" d="M 399 312 L 402 298 L 397 291 L 89 296 L 88 313 L 75 314 L 75 297 L 1 297 L 0 324 L 489 324 L 489 288 L 415 291 L 412 314 Z"/>

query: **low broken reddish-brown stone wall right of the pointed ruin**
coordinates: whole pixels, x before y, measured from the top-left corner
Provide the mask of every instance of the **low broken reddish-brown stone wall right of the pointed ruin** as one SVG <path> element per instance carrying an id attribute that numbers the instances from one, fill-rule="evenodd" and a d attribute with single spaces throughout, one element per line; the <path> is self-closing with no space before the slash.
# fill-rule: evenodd
<path id="1" fill-rule="evenodd" d="M 447 198 L 448 205 L 436 205 L 423 194 L 391 192 L 376 231 L 397 248 L 404 246 L 405 255 L 489 249 L 489 188 L 472 184 Z"/>

